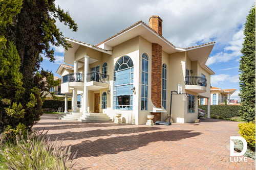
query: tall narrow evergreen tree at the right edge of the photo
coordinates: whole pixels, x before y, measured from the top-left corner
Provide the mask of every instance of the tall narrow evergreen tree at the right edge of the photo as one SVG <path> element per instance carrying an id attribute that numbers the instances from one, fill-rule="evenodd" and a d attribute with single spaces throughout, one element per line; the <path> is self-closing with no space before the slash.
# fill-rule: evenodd
<path id="1" fill-rule="evenodd" d="M 241 53 L 240 74 L 240 114 L 246 122 L 255 118 L 255 5 L 250 10 L 244 27 L 244 43 Z"/>

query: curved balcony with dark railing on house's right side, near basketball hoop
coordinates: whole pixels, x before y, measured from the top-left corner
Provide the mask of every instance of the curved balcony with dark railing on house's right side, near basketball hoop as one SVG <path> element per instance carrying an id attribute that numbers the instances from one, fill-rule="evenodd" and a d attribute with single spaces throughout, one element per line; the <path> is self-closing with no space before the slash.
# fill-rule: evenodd
<path id="1" fill-rule="evenodd" d="M 201 76 L 186 76 L 185 89 L 196 93 L 206 92 L 206 78 Z"/>

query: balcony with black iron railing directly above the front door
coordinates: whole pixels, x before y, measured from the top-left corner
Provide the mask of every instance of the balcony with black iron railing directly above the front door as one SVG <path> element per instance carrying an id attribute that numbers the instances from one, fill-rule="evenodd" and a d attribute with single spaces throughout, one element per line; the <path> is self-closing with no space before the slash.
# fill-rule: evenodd
<path id="1" fill-rule="evenodd" d="M 88 90 L 96 91 L 102 88 L 109 88 L 109 75 L 100 72 L 88 72 L 86 86 Z"/>

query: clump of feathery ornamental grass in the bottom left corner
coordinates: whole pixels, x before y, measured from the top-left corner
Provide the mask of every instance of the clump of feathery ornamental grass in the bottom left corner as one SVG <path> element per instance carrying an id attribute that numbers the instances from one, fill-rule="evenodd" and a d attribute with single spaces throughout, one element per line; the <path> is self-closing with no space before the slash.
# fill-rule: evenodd
<path id="1" fill-rule="evenodd" d="M 4 164 L 9 169 L 72 169 L 76 153 L 70 152 L 71 147 L 60 147 L 62 141 L 50 141 L 46 134 L 32 132 L 27 139 L 17 135 L 15 144 L 2 138 L 0 154 Z"/>

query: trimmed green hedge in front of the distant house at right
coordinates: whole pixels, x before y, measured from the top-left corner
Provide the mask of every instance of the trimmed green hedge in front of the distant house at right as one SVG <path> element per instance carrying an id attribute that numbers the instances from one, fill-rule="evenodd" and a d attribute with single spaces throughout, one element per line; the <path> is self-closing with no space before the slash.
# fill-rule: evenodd
<path id="1" fill-rule="evenodd" d="M 240 116 L 239 105 L 210 105 L 210 115 L 216 115 L 223 118 Z M 207 105 L 199 105 L 199 109 L 205 110 L 207 114 Z"/>

